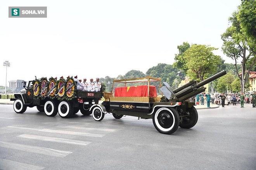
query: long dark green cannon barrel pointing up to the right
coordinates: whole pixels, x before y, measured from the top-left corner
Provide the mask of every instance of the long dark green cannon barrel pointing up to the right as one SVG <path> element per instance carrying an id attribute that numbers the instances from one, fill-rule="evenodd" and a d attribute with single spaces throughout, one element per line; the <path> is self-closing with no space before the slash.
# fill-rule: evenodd
<path id="1" fill-rule="evenodd" d="M 185 88 L 183 88 L 179 91 L 177 89 L 175 89 L 174 91 L 176 93 L 174 93 L 174 94 L 178 99 L 182 98 L 183 96 L 186 96 L 189 93 L 192 93 L 191 95 L 194 96 L 196 94 L 201 93 L 201 92 L 197 91 L 198 88 L 208 84 L 211 81 L 214 81 L 214 80 L 220 78 L 221 76 L 224 76 L 225 74 L 227 74 L 227 72 L 225 70 L 222 70 L 221 72 L 209 77 L 208 79 L 205 79 L 204 81 L 199 82 L 198 84 L 196 84 L 196 83 L 193 83 L 193 84 L 187 83 L 188 84 L 187 87 L 185 87 Z M 189 96 L 191 96 L 191 95 L 189 95 Z"/>

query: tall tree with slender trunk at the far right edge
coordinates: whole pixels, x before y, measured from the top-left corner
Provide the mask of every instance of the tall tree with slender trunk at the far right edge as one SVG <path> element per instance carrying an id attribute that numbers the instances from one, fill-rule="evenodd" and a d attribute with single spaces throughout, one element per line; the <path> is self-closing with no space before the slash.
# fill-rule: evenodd
<path id="1" fill-rule="evenodd" d="M 235 70 L 242 84 L 246 84 L 249 73 L 256 62 L 256 3 L 254 0 L 242 0 L 242 4 L 228 20 L 231 26 L 221 35 L 223 40 L 222 50 L 228 57 L 235 60 Z M 242 59 L 242 73 L 239 75 L 237 60 Z"/>

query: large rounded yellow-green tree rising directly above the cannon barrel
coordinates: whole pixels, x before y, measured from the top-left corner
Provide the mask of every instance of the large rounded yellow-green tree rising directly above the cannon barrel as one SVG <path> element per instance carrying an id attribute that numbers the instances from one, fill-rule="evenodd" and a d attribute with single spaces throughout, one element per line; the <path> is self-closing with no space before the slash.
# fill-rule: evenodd
<path id="1" fill-rule="evenodd" d="M 217 65 L 221 63 L 221 57 L 213 54 L 218 48 L 207 45 L 192 45 L 184 52 L 187 76 L 203 81 L 205 77 L 216 73 Z"/>

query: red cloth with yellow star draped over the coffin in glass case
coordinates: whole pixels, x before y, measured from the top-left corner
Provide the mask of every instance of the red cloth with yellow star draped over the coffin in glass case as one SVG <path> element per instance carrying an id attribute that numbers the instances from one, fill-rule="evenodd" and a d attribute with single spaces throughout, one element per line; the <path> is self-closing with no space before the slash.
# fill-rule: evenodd
<path id="1" fill-rule="evenodd" d="M 115 97 L 147 97 L 148 86 L 131 86 L 115 89 Z M 149 96 L 156 97 L 156 86 L 149 86 Z"/>

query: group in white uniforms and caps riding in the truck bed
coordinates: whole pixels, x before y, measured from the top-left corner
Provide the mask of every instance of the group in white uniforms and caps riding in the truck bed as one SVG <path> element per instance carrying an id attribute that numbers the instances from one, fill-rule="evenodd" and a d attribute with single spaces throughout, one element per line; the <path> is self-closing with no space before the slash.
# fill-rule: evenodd
<path id="1" fill-rule="evenodd" d="M 77 86 L 76 89 L 82 90 L 82 91 L 95 91 L 98 92 L 101 89 L 101 83 L 99 82 L 99 78 L 96 78 L 96 82 L 93 82 L 93 78 L 90 79 L 90 82 L 86 82 L 86 78 L 83 79 L 83 82 L 81 79 L 77 79 L 77 76 L 74 77 L 74 81 L 76 81 Z"/>

